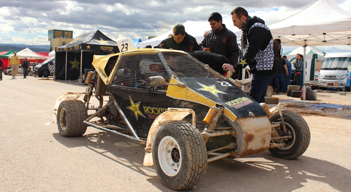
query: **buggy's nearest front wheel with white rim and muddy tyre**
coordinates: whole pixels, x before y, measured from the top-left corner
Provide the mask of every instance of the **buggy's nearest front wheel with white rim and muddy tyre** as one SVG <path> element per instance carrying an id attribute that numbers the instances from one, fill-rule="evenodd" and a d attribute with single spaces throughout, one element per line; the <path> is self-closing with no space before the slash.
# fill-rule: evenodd
<path id="1" fill-rule="evenodd" d="M 164 185 L 184 190 L 196 185 L 207 168 L 206 144 L 199 130 L 186 121 L 162 125 L 152 143 L 155 171 Z"/>

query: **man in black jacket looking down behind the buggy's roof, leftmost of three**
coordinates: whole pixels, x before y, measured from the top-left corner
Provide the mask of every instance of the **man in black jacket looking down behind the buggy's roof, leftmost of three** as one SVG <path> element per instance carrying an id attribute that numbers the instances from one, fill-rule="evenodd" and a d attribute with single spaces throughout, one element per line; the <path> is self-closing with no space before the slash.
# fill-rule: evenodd
<path id="1" fill-rule="evenodd" d="M 185 27 L 182 24 L 174 26 L 173 37 L 163 40 L 158 47 L 186 52 L 199 50 L 198 42 L 193 36 L 185 32 Z"/>

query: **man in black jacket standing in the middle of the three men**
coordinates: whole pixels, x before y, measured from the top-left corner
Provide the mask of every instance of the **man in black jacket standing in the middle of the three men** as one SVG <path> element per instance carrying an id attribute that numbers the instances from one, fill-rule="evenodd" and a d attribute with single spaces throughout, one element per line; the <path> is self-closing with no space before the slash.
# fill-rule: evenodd
<path id="1" fill-rule="evenodd" d="M 222 24 L 221 14 L 211 14 L 208 21 L 212 30 L 200 43 L 200 49 L 223 55 L 231 65 L 235 65 L 239 58 L 237 36 Z"/>

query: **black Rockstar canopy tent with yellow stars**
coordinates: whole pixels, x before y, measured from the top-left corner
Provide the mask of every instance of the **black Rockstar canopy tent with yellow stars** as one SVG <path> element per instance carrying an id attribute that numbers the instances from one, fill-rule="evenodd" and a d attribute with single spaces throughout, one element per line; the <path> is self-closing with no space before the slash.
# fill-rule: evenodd
<path id="1" fill-rule="evenodd" d="M 77 80 L 85 69 L 92 69 L 94 55 L 110 51 L 119 52 L 117 43 L 99 30 L 81 34 L 71 43 L 55 48 L 55 78 Z"/>

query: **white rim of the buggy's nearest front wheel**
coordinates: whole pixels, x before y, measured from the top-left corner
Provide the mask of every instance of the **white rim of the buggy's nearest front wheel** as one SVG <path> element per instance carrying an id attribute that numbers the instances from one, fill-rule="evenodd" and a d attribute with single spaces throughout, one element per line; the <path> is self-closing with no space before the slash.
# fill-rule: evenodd
<path id="1" fill-rule="evenodd" d="M 182 167 L 182 150 L 177 140 L 165 136 L 158 145 L 158 163 L 167 176 L 175 176 Z"/>

